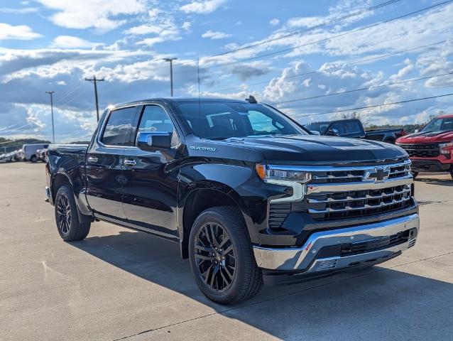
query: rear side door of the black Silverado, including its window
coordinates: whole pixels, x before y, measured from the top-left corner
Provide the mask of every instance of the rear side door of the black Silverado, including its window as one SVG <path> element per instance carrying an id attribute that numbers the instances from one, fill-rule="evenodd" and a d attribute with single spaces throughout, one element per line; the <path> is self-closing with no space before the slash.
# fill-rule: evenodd
<path id="1" fill-rule="evenodd" d="M 87 201 L 95 214 L 122 219 L 124 151 L 133 146 L 137 107 L 116 109 L 107 115 L 87 151 Z"/>

